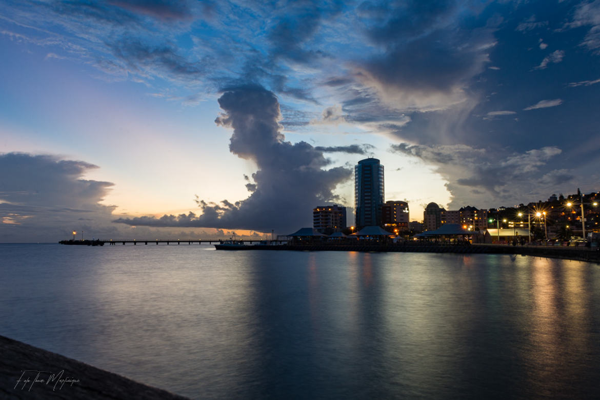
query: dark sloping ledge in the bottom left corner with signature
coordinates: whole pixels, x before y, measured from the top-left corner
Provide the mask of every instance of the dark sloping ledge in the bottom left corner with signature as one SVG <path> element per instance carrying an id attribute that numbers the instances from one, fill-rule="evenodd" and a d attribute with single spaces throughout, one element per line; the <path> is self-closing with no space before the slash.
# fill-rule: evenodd
<path id="1" fill-rule="evenodd" d="M 34 382 L 36 376 L 44 382 Z M 4 336 L 0 336 L 0 398 L 186 399 Z"/>

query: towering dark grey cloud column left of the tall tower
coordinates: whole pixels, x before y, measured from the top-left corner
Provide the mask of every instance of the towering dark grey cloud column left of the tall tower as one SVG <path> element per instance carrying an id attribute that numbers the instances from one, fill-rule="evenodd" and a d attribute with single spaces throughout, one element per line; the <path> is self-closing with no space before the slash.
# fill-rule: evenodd
<path id="1" fill-rule="evenodd" d="M 333 191 L 352 175 L 343 167 L 323 169 L 329 161 L 305 142 L 286 142 L 279 125 L 277 97 L 262 86 L 224 90 L 218 100 L 223 113 L 217 125 L 233 128 L 229 149 L 258 170 L 252 175 L 253 192 L 245 200 L 219 204 L 197 199 L 202 214 L 164 215 L 161 218 L 119 218 L 128 225 L 244 228 L 279 233 L 310 225 L 311 210 L 326 201 L 338 201 Z M 249 179 L 248 179 L 249 180 Z"/>

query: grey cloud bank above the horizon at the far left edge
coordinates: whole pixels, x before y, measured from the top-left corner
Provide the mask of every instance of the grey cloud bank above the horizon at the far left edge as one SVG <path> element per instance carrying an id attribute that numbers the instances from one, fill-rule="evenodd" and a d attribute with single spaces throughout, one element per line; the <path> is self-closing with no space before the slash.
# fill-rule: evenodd
<path id="1" fill-rule="evenodd" d="M 0 226 L 7 228 L 0 242 L 58 241 L 90 219 L 109 225 L 114 207 L 100 201 L 112 184 L 82 179 L 96 168 L 50 155 L 0 154 Z"/>

